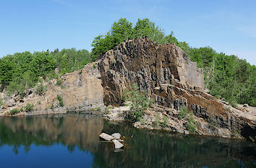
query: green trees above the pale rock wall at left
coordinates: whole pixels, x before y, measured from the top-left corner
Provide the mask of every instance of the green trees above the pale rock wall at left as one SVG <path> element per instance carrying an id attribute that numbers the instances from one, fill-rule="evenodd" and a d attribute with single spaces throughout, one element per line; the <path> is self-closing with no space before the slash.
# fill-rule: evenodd
<path id="1" fill-rule="evenodd" d="M 77 71 L 85 64 L 95 60 L 88 50 L 63 49 L 53 52 L 24 52 L 0 58 L 0 91 L 7 88 L 9 94 L 24 96 L 28 89 L 35 87 L 40 76 L 51 80 L 59 77 L 54 72 L 59 68 L 61 74 Z"/>

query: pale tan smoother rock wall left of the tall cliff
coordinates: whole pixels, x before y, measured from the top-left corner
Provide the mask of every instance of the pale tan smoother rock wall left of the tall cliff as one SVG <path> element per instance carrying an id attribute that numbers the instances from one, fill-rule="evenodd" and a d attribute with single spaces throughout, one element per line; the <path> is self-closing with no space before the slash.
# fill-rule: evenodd
<path id="1" fill-rule="evenodd" d="M 40 115 L 52 113 L 65 113 L 67 111 L 84 111 L 103 108 L 103 87 L 101 87 L 101 74 L 95 66 L 97 63 L 89 63 L 79 71 L 64 74 L 61 86 L 53 79 L 44 82 L 47 90 L 43 96 L 36 94 L 36 89 L 30 90 L 24 98 L 19 95 L 7 97 L 0 107 L 0 115 L 8 115 L 9 111 L 16 108 L 24 109 L 28 103 L 34 105 L 32 112 L 20 112 L 17 115 Z M 64 107 L 61 107 L 57 95 L 61 95 Z"/>

